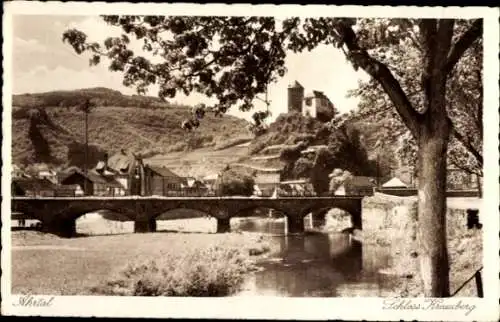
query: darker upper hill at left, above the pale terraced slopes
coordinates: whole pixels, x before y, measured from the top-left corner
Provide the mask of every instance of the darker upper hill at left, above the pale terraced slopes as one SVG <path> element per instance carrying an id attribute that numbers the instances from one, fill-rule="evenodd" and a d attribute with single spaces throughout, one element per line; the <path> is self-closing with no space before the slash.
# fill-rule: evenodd
<path id="1" fill-rule="evenodd" d="M 63 94 L 61 94 L 63 93 Z M 82 94 L 83 93 L 83 94 Z M 89 94 L 90 93 L 90 94 Z M 94 94 L 103 96 L 92 96 Z M 111 95 L 112 94 L 112 95 Z M 189 117 L 187 107 L 162 103 L 161 107 L 134 106 L 135 100 L 154 98 L 125 96 L 107 89 L 75 91 L 75 96 L 106 100 L 106 104 L 122 102 L 122 106 L 98 105 L 89 114 L 89 161 L 95 164 L 105 152 L 110 154 L 125 149 L 141 153 L 145 158 L 172 152 L 186 152 L 198 148 L 230 146 L 236 140 L 251 139 L 247 121 L 229 115 L 222 118 L 207 114 L 199 128 L 186 132 L 181 123 Z M 27 97 L 36 100 L 34 106 Z M 83 164 L 84 114 L 71 105 L 51 106 L 69 102 L 68 92 L 15 95 L 12 120 L 12 157 L 16 164 L 48 163 L 55 166 Z M 157 102 L 158 103 L 158 102 Z M 23 105 L 24 104 L 24 105 Z M 69 103 L 68 103 L 69 104 Z M 158 103 L 159 104 L 159 103 Z M 159 105 L 158 105 L 159 106 Z"/>

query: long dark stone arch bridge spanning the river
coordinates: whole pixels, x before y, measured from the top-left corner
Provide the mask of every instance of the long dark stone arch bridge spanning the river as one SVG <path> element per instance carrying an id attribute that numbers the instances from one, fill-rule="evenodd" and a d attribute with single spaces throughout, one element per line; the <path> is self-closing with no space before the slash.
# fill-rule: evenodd
<path id="1" fill-rule="evenodd" d="M 42 222 L 44 231 L 60 236 L 76 234 L 76 219 L 93 211 L 110 210 L 135 222 L 135 232 L 156 230 L 156 218 L 167 211 L 185 208 L 204 212 L 217 219 L 217 232 L 230 229 L 232 217 L 250 216 L 248 210 L 269 208 L 287 217 L 288 231 L 304 231 L 304 217 L 339 208 L 351 215 L 354 228 L 361 229 L 361 196 L 332 197 L 13 197 L 12 212 Z"/>

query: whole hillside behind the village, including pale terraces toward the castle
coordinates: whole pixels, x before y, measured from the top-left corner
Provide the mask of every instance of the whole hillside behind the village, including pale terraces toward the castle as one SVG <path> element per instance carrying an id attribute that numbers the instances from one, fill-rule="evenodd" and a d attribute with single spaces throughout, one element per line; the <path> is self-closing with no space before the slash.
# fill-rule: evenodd
<path id="1" fill-rule="evenodd" d="M 82 166 L 84 114 L 75 105 L 84 99 L 98 105 L 89 115 L 92 165 L 105 152 L 125 149 L 141 153 L 148 163 L 192 176 L 217 173 L 227 164 L 282 168 L 278 156 L 283 146 L 299 141 L 328 144 L 329 140 L 322 135 L 324 123 L 300 113 L 281 114 L 267 133 L 255 138 L 247 131 L 245 120 L 230 115 L 216 118 L 207 114 L 199 128 L 186 132 L 180 124 L 190 115 L 189 107 L 93 88 L 14 95 L 13 161 L 19 165 Z M 381 125 L 363 118 L 355 118 L 351 124 L 360 131 L 370 159 L 392 154 L 375 144 Z"/>

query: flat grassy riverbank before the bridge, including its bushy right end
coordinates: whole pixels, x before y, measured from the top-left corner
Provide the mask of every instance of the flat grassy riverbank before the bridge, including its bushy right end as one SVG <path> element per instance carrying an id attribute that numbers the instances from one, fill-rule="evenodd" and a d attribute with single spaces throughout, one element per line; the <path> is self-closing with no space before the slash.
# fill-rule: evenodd
<path id="1" fill-rule="evenodd" d="M 61 239 L 12 232 L 12 292 L 217 295 L 269 250 L 256 234 L 151 233 Z"/>

